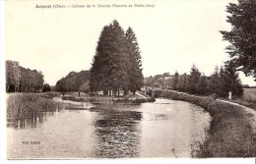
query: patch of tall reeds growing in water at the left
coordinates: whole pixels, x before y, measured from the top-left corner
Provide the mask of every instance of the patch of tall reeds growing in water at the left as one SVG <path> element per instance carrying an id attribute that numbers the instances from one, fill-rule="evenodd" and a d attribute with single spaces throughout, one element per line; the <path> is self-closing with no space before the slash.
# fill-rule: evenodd
<path id="1" fill-rule="evenodd" d="M 15 127 L 42 122 L 46 112 L 54 112 L 60 104 L 44 94 L 12 93 L 7 98 L 7 121 Z"/>

